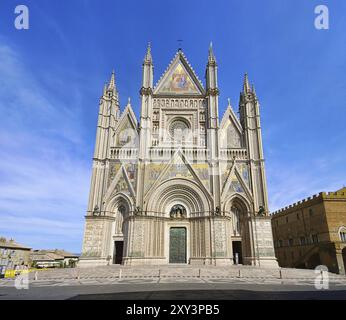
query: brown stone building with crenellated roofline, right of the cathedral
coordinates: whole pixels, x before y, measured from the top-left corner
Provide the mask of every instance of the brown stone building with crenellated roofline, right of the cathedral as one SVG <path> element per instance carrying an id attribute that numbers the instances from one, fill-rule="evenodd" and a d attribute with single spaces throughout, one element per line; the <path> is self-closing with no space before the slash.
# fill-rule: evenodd
<path id="1" fill-rule="evenodd" d="M 321 192 L 273 213 L 272 229 L 281 267 L 325 265 L 345 274 L 346 188 Z"/>

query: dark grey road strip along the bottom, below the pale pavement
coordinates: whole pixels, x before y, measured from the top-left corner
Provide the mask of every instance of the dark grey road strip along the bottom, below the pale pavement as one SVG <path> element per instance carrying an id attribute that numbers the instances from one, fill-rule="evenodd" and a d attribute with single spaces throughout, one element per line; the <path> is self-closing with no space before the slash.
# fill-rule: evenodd
<path id="1" fill-rule="evenodd" d="M 42 286 L 29 290 L 0 287 L 0 300 L 346 300 L 346 286 L 169 283 Z"/>

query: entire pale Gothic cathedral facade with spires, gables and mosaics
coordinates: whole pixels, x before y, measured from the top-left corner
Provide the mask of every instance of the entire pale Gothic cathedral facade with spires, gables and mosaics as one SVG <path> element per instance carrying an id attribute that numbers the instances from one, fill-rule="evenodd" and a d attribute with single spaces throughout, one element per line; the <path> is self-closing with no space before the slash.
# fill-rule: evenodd
<path id="1" fill-rule="evenodd" d="M 245 75 L 239 117 L 219 117 L 217 61 L 201 82 L 182 49 L 154 85 L 143 61 L 140 119 L 114 72 L 100 99 L 80 266 L 276 267 L 260 105 Z M 223 108 L 224 109 L 224 108 Z"/>

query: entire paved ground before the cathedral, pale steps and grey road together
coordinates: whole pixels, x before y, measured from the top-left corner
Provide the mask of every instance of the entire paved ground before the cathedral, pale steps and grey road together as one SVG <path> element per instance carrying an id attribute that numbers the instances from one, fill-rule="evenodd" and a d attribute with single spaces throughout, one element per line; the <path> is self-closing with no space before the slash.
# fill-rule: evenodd
<path id="1" fill-rule="evenodd" d="M 54 269 L 29 276 L 29 289 L 0 280 L 0 299 L 343 299 L 346 278 L 324 274 L 328 290 L 317 290 L 314 270 L 233 267 L 107 266 Z M 319 278 L 321 280 L 321 278 Z"/>

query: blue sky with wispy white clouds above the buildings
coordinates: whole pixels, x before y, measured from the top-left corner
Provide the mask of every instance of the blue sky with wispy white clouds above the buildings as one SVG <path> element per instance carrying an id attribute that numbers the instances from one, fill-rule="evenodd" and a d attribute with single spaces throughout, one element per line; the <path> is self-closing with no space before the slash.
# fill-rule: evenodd
<path id="1" fill-rule="evenodd" d="M 16 30 L 25 4 L 30 29 Z M 330 29 L 314 28 L 314 8 Z M 152 43 L 158 80 L 183 39 L 204 79 L 219 64 L 220 114 L 243 74 L 261 103 L 270 209 L 346 184 L 346 2 L 314 0 L 0 2 L 0 235 L 80 252 L 98 100 L 114 68 L 139 114 Z"/>

